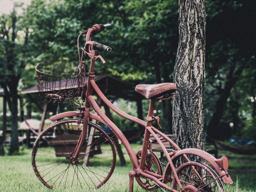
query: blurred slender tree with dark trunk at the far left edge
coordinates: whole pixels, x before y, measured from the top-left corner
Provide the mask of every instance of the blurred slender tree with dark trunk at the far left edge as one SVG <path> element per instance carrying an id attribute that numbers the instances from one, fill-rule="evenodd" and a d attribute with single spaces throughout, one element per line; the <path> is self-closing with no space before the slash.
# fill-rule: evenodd
<path id="1" fill-rule="evenodd" d="M 0 17 L 0 86 L 11 111 L 10 154 L 19 150 L 18 143 L 18 85 L 25 68 L 26 35 L 21 32 L 15 7 L 10 15 Z"/>

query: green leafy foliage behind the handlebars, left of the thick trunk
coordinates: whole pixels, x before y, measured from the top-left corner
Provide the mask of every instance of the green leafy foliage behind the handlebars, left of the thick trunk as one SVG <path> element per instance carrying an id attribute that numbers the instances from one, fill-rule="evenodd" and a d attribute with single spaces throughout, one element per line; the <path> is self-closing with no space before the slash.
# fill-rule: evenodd
<path id="1" fill-rule="evenodd" d="M 78 34 L 95 23 L 111 23 L 93 37 L 113 50 L 100 52 L 107 63 L 96 63 L 97 74 L 111 73 L 133 85 L 171 82 L 178 44 L 177 12 L 178 3 L 173 1 L 35 0 L 24 17 L 25 25 L 33 29 L 29 38 L 31 60 L 77 60 Z M 83 43 L 84 39 L 81 47 Z M 167 118 L 171 124 L 171 113 Z"/>

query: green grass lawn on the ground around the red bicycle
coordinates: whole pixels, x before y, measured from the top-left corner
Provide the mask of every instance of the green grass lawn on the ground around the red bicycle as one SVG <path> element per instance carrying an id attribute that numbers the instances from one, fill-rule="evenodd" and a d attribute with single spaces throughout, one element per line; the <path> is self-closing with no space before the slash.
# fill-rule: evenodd
<path id="1" fill-rule="evenodd" d="M 133 148 L 137 152 L 139 145 L 133 144 Z M 0 191 L 6 192 L 27 192 L 27 191 L 52 191 L 46 188 L 36 177 L 31 165 L 32 149 L 20 147 L 20 153 L 13 156 L 0 156 Z M 125 152 L 125 151 L 124 151 Z M 221 151 L 221 154 L 225 153 Z M 117 164 L 110 180 L 97 191 L 129 191 L 128 173 L 132 170 L 132 166 L 128 155 L 125 154 L 127 165 L 121 167 Z M 229 172 L 234 181 L 232 185 L 225 185 L 226 192 L 245 192 L 256 191 L 256 156 L 238 156 L 228 153 Z M 63 191 L 63 190 L 54 190 Z M 67 190 L 72 191 L 72 190 Z M 142 190 L 135 182 L 134 191 Z M 161 190 L 159 190 L 161 191 Z"/>

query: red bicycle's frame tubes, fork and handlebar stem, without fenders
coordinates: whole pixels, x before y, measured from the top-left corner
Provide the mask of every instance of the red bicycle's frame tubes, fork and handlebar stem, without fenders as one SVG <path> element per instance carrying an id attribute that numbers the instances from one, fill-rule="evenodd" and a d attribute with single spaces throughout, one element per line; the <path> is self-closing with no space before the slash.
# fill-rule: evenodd
<path id="1" fill-rule="evenodd" d="M 85 51 L 87 51 L 86 53 L 89 55 L 89 49 L 92 48 L 92 44 L 89 44 L 90 41 L 90 36 L 91 33 L 95 32 L 95 31 L 99 31 L 100 29 L 97 28 L 98 26 L 95 25 L 94 28 L 89 29 L 89 31 L 86 34 L 86 46 L 85 46 Z M 95 53 L 96 52 L 96 53 Z M 145 167 L 145 163 L 146 163 L 146 156 L 147 156 L 147 151 L 148 151 L 148 143 L 149 143 L 149 137 L 150 134 L 152 134 L 153 136 L 156 136 L 155 133 L 152 131 L 151 126 L 152 126 L 152 119 L 148 119 L 150 117 L 153 116 L 153 111 L 154 111 L 154 101 L 150 101 L 150 107 L 149 107 L 149 111 L 148 111 L 148 118 L 147 118 L 147 122 L 144 122 L 136 117 L 130 116 L 124 112 L 122 112 L 121 110 L 117 109 L 116 107 L 114 107 L 113 104 L 111 104 L 111 102 L 104 96 L 104 94 L 100 91 L 100 89 L 98 88 L 98 86 L 96 85 L 95 81 L 94 81 L 94 66 L 95 66 L 95 60 L 97 58 L 100 58 L 103 62 L 105 62 L 103 60 L 103 58 L 101 56 L 97 56 L 97 51 L 93 50 L 93 55 L 89 55 L 89 57 L 91 57 L 91 64 L 90 64 L 90 70 L 88 73 L 88 82 L 87 82 L 87 88 L 86 88 L 86 100 L 85 100 L 85 109 L 84 109 L 84 123 L 83 123 L 83 131 L 82 134 L 80 136 L 79 142 L 76 146 L 76 150 L 75 150 L 75 155 L 73 156 L 73 162 L 72 163 L 76 163 L 76 159 L 78 158 L 80 149 L 83 145 L 83 141 L 86 138 L 87 135 L 87 126 L 88 126 L 88 121 L 89 121 L 89 117 L 94 117 L 96 120 L 100 121 L 100 122 L 104 122 L 105 125 L 107 125 L 111 131 L 117 136 L 117 138 L 119 138 L 119 140 L 121 141 L 121 143 L 124 145 L 124 147 L 126 148 L 128 155 L 130 156 L 130 160 L 133 164 L 133 167 L 135 168 L 134 170 L 136 170 L 136 175 L 139 175 L 140 172 L 144 172 L 144 167 Z M 81 78 L 82 79 L 82 78 Z M 135 152 L 133 151 L 129 141 L 126 139 L 126 137 L 123 135 L 123 133 L 120 131 L 120 129 L 118 129 L 118 127 L 101 111 L 100 107 L 97 105 L 96 101 L 93 99 L 92 97 L 92 90 L 95 90 L 96 93 L 98 94 L 98 96 L 102 99 L 102 101 L 108 106 L 110 107 L 112 110 L 114 110 L 117 114 L 119 114 L 120 116 L 131 120 L 133 122 L 136 122 L 142 126 L 144 126 L 145 129 L 145 135 L 144 135 L 144 141 L 143 141 L 143 145 L 142 145 L 142 154 L 141 154 L 141 159 L 140 159 L 140 163 L 139 160 L 136 157 Z M 95 112 L 98 114 L 98 116 L 96 117 L 93 116 L 90 113 L 90 110 L 92 107 Z M 173 143 L 173 142 L 172 142 Z M 175 147 L 176 144 L 173 143 L 173 145 Z M 163 147 L 164 153 L 166 153 L 167 155 L 167 159 L 169 161 L 169 164 L 171 166 L 171 169 L 175 170 L 174 165 L 170 159 L 170 156 L 168 156 L 168 152 L 167 150 Z M 151 179 L 151 180 L 155 180 L 156 183 L 158 185 L 164 185 L 165 188 L 169 188 L 172 189 L 170 187 L 168 187 L 167 185 L 165 185 L 164 183 L 160 182 L 158 179 L 162 178 L 162 175 L 157 175 L 157 178 L 155 176 L 152 176 L 149 174 L 150 172 L 144 172 L 143 174 L 145 175 L 145 177 Z M 173 172 L 175 177 L 177 178 L 177 181 L 181 187 L 180 181 L 178 179 L 178 176 L 176 174 L 176 172 Z M 182 188 L 182 187 L 181 187 Z"/>

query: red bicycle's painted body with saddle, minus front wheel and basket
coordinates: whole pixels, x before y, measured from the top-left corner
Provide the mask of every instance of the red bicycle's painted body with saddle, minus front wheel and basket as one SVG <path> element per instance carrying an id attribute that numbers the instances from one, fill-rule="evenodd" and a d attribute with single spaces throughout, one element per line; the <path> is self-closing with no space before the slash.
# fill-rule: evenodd
<path id="1" fill-rule="evenodd" d="M 130 160 L 133 165 L 133 171 L 129 173 L 130 177 L 130 185 L 129 185 L 129 191 L 133 191 L 133 182 L 134 182 L 134 177 L 143 177 L 148 182 L 153 182 L 156 185 L 152 184 L 151 187 L 147 188 L 147 184 L 143 185 L 143 183 L 140 183 L 142 187 L 146 190 L 151 190 L 155 189 L 153 186 L 158 186 L 163 189 L 167 189 L 170 191 L 177 191 L 174 188 L 168 186 L 165 182 L 171 182 L 173 180 L 172 174 L 174 175 L 173 177 L 175 178 L 174 180 L 178 184 L 180 191 L 197 191 L 198 189 L 193 186 L 192 184 L 187 185 L 187 187 L 182 187 L 182 183 L 179 179 L 179 176 L 177 175 L 174 162 L 176 162 L 176 159 L 179 157 L 183 157 L 186 162 L 190 162 L 189 158 L 186 156 L 187 154 L 194 154 L 197 156 L 200 156 L 201 158 L 205 159 L 208 161 L 214 169 L 217 171 L 217 173 L 220 175 L 219 178 L 217 179 L 222 179 L 224 183 L 229 183 L 232 184 L 233 181 L 230 178 L 228 172 L 226 171 L 228 168 L 228 161 L 226 157 L 222 157 L 221 159 L 216 159 L 214 156 L 211 154 L 199 150 L 199 149 L 183 149 L 181 150 L 179 146 L 177 146 L 169 137 L 164 135 L 161 131 L 156 129 L 155 127 L 152 126 L 152 122 L 156 121 L 157 124 L 159 125 L 159 117 L 153 116 L 153 111 L 154 111 L 154 106 L 156 101 L 161 101 L 163 99 L 170 99 L 173 98 L 173 95 L 175 94 L 176 91 L 176 85 L 173 83 L 164 83 L 164 84 L 157 84 L 157 85 L 137 85 L 136 91 L 141 93 L 143 96 L 146 98 L 149 98 L 150 105 L 149 105 L 149 110 L 148 110 L 148 115 L 146 121 L 143 121 L 141 119 L 138 119 L 136 117 L 130 116 L 123 111 L 119 110 L 117 107 L 115 107 L 106 97 L 105 95 L 101 92 L 101 90 L 98 88 L 94 81 L 94 68 L 95 68 L 95 60 L 98 58 L 105 63 L 105 60 L 98 54 L 98 48 L 101 47 L 101 49 L 104 49 L 106 51 L 110 51 L 111 49 L 106 46 L 106 45 L 101 45 L 97 42 L 91 41 L 91 37 L 95 35 L 96 33 L 99 33 L 101 30 L 103 30 L 105 26 L 102 25 L 94 25 L 91 29 L 86 30 L 82 32 L 82 34 L 86 34 L 86 44 L 83 49 L 83 54 L 88 58 L 91 59 L 90 63 L 90 70 L 88 73 L 81 72 L 81 81 L 83 81 L 84 76 L 88 76 L 87 80 L 87 88 L 86 90 L 83 88 L 83 95 L 85 95 L 85 104 L 84 108 L 82 111 L 70 111 L 70 112 L 65 112 L 61 113 L 58 115 L 55 115 L 51 118 L 52 121 L 55 121 L 60 118 L 64 117 L 69 117 L 69 116 L 80 116 L 80 118 L 83 118 L 83 132 L 80 135 L 79 142 L 76 145 L 76 148 L 73 153 L 72 159 L 72 164 L 76 164 L 77 158 L 78 158 L 78 153 L 80 151 L 81 146 L 83 145 L 83 141 L 85 140 L 86 134 L 87 134 L 87 125 L 89 118 L 90 119 L 95 119 L 96 121 L 99 121 L 108 128 L 111 129 L 111 131 L 116 135 L 116 137 L 119 139 L 120 143 L 123 144 L 125 147 L 128 155 L 130 156 Z M 82 58 L 82 57 L 81 57 Z M 82 62 L 82 59 L 80 60 L 80 69 L 83 69 L 85 67 L 82 66 L 84 62 Z M 138 158 L 138 153 L 133 151 L 133 148 L 131 147 L 129 141 L 126 139 L 126 137 L 123 135 L 123 133 L 120 131 L 120 129 L 101 111 L 100 107 L 98 106 L 97 102 L 94 100 L 92 96 L 93 90 L 98 94 L 98 96 L 101 98 L 101 100 L 108 106 L 110 107 L 115 113 L 118 115 L 136 122 L 139 125 L 142 125 L 145 127 L 145 134 L 144 134 L 144 140 L 142 144 L 142 150 L 139 152 L 139 158 Z M 97 115 L 90 113 L 91 109 L 94 109 Z M 159 125 L 160 127 L 160 125 Z M 167 168 L 165 169 L 165 172 L 162 173 L 161 171 L 158 171 L 160 174 L 156 174 L 154 171 L 150 170 L 149 167 L 146 165 L 148 158 L 152 158 L 154 162 L 160 162 L 159 159 L 157 159 L 157 156 L 152 155 L 153 152 L 148 151 L 149 149 L 149 139 L 150 139 L 150 134 L 153 135 L 155 140 L 158 142 L 158 144 L 161 146 L 162 151 L 164 152 L 168 164 Z M 176 150 L 173 150 L 172 152 L 168 152 L 167 149 L 164 147 L 164 144 L 162 143 L 161 139 L 158 138 L 158 135 L 160 135 L 162 138 L 164 138 L 165 141 L 168 141 Z M 150 155 L 151 154 L 151 155 Z M 186 164 L 187 166 L 187 164 Z M 195 173 L 198 175 L 198 178 L 200 178 L 199 173 Z M 213 175 L 217 175 L 215 172 Z M 203 180 L 201 178 L 201 180 Z M 222 190 L 222 189 L 221 189 Z"/>

